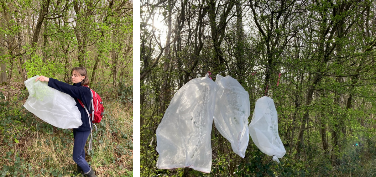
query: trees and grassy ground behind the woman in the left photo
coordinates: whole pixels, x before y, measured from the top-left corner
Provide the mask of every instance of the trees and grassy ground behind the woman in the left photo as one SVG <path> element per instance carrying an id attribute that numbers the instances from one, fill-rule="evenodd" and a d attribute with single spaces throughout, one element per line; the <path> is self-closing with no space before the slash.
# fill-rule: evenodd
<path id="1" fill-rule="evenodd" d="M 0 176 L 74 175 L 72 130 L 23 107 L 25 80 L 72 84 L 74 67 L 105 107 L 86 160 L 99 176 L 132 176 L 133 1 L 0 0 L 0 11 Z"/>

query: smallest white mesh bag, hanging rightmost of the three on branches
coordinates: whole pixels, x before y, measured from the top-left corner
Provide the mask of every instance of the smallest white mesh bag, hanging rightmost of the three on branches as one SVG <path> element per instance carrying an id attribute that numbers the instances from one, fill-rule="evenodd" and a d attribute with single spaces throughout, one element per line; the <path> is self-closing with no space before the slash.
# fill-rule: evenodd
<path id="1" fill-rule="evenodd" d="M 278 135 L 277 110 L 273 99 L 264 96 L 256 101 L 249 134 L 259 150 L 273 156 L 273 160 L 279 163 L 278 158 L 282 158 L 286 150 Z"/>

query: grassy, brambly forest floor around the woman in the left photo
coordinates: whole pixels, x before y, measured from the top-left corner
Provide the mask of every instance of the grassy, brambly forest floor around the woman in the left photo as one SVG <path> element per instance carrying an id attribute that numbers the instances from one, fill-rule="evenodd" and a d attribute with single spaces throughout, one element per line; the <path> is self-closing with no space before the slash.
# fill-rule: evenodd
<path id="1" fill-rule="evenodd" d="M 24 109 L 28 92 L 17 70 L 13 73 L 10 100 L 7 86 L 0 86 L 0 177 L 73 176 L 72 129 L 51 126 Z M 92 151 L 86 143 L 86 161 L 100 177 L 133 176 L 133 106 L 109 91 L 101 97 L 105 115 L 93 131 Z"/>

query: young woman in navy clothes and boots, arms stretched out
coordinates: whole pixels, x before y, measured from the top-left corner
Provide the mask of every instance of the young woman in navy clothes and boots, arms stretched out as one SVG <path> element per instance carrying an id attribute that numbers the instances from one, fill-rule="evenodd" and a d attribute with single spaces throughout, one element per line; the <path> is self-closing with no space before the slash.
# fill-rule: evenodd
<path id="1" fill-rule="evenodd" d="M 89 85 L 88 74 L 86 68 L 83 67 L 73 68 L 71 73 L 73 85 L 44 76 L 39 76 L 35 81 L 48 82 L 48 86 L 71 95 L 76 101 L 76 106 L 81 112 L 82 125 L 77 129 L 73 129 L 73 160 L 77 163 L 77 173 L 85 174 L 88 177 L 97 177 L 85 160 L 85 144 L 90 134 L 92 123 L 89 121 L 86 110 L 77 101 L 77 99 L 81 100 L 88 107 L 89 112 L 91 112 L 91 91 L 88 87 L 84 87 L 84 85 Z"/>

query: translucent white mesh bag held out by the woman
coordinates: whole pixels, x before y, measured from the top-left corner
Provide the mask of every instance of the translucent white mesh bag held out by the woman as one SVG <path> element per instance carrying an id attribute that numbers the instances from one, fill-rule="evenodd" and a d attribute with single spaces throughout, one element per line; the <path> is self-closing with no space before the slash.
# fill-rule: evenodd
<path id="1" fill-rule="evenodd" d="M 29 91 L 29 98 L 23 106 L 55 127 L 72 129 L 81 126 L 81 113 L 76 101 L 70 95 L 49 87 L 47 82 L 35 82 L 37 77 L 39 76 L 24 82 Z"/>

